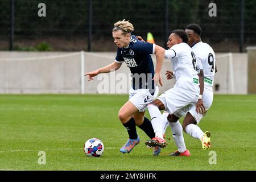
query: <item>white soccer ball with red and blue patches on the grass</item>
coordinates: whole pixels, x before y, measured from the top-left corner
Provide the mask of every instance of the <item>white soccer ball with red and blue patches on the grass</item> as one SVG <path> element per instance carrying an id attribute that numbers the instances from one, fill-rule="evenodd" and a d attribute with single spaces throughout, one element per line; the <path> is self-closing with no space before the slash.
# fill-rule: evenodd
<path id="1" fill-rule="evenodd" d="M 104 152 L 104 144 L 97 138 L 91 138 L 85 142 L 84 152 L 87 156 L 99 157 Z"/>

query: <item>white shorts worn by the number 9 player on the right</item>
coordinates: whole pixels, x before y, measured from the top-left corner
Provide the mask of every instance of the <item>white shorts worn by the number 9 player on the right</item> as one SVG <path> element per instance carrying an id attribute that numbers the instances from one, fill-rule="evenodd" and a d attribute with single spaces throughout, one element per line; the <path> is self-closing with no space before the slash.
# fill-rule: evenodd
<path id="1" fill-rule="evenodd" d="M 207 89 L 204 87 L 204 93 L 203 93 L 203 103 L 205 110 L 209 110 L 210 106 L 212 105 L 213 101 L 213 92 L 210 89 Z M 189 113 L 196 119 L 197 124 L 200 122 L 200 120 L 204 117 L 203 114 L 196 113 L 196 105 L 193 105 L 191 109 L 189 110 Z"/>

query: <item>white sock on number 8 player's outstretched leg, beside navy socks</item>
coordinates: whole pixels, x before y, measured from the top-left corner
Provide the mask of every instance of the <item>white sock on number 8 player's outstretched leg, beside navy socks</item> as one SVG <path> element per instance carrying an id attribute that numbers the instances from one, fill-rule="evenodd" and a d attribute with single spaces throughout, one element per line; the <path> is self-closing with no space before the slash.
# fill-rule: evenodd
<path id="1" fill-rule="evenodd" d="M 149 104 L 147 106 L 148 113 L 150 113 L 151 123 L 155 131 L 155 137 L 163 138 L 163 121 L 162 114 L 157 106 Z"/>

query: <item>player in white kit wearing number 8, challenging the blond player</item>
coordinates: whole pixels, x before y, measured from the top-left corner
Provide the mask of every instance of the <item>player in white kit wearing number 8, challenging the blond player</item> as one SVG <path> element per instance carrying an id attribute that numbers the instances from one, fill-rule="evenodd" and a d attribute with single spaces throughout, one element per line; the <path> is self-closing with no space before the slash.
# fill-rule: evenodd
<path id="1" fill-rule="evenodd" d="M 155 101 L 148 104 L 151 123 L 156 137 L 147 140 L 147 146 L 166 147 L 166 140 L 163 138 L 163 117 L 160 110 L 166 110 L 170 117 L 172 133 L 182 134 L 182 126 L 177 120 L 183 117 L 197 103 L 200 94 L 199 76 L 197 75 L 196 56 L 191 47 L 188 46 L 188 36 L 184 30 L 174 30 L 168 38 L 165 57 L 171 59 L 174 65 L 176 84 L 161 94 Z M 201 105 L 200 109 L 204 109 Z M 175 140 L 178 151 L 175 155 L 190 156 L 185 147 L 183 135 Z"/>

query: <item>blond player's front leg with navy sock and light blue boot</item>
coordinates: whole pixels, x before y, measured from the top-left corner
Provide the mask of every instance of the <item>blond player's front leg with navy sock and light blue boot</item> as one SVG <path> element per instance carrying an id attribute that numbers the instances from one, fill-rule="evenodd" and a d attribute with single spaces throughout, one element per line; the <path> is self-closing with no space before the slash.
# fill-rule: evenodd
<path id="1" fill-rule="evenodd" d="M 126 152 L 129 153 L 133 148 L 139 143 L 139 137 L 136 131 L 136 124 L 135 120 L 132 117 L 135 113 L 138 112 L 136 106 L 130 101 L 127 101 L 125 105 L 121 107 L 118 113 L 118 117 L 122 122 L 123 126 L 127 129 L 129 134 L 129 139 L 127 142 L 120 148 L 120 152 L 125 154 Z"/>

